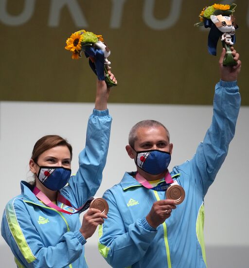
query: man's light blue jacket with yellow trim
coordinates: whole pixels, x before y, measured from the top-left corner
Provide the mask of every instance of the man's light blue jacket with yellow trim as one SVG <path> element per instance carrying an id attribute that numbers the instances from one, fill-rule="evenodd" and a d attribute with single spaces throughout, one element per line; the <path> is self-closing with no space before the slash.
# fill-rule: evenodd
<path id="1" fill-rule="evenodd" d="M 183 203 L 157 229 L 146 221 L 165 192 L 142 187 L 134 172 L 104 193 L 108 219 L 99 227 L 99 251 L 114 268 L 206 268 L 204 196 L 221 167 L 234 135 L 240 107 L 236 81 L 216 84 L 213 120 L 190 161 L 171 172 L 186 193 Z"/>

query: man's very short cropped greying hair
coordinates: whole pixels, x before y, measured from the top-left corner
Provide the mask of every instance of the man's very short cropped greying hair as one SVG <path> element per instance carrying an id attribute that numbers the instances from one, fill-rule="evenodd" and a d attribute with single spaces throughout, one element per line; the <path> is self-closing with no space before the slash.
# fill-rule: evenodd
<path id="1" fill-rule="evenodd" d="M 163 127 L 167 133 L 167 138 L 169 140 L 169 131 L 166 129 L 166 127 L 162 123 L 156 120 L 142 120 L 131 128 L 130 133 L 129 133 L 129 139 L 128 139 L 129 145 L 132 148 L 134 148 L 135 141 L 137 140 L 137 130 L 139 128 L 150 128 L 150 127 Z"/>

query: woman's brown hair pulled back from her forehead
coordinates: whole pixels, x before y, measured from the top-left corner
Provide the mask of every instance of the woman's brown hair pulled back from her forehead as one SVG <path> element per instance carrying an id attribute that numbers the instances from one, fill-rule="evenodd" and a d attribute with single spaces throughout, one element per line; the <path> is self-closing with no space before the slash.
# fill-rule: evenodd
<path id="1" fill-rule="evenodd" d="M 56 147 L 67 146 L 70 152 L 70 158 L 72 159 L 72 147 L 68 141 L 58 135 L 46 135 L 36 141 L 36 144 L 32 151 L 31 159 L 37 163 L 38 157 L 45 151 Z"/>

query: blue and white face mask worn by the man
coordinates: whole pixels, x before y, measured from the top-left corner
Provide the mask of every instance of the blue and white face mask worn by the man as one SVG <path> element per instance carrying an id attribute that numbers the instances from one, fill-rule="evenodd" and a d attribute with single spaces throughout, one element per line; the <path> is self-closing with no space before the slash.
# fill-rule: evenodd
<path id="1" fill-rule="evenodd" d="M 169 166 L 171 155 L 160 150 L 139 151 L 135 163 L 143 171 L 152 175 L 165 172 Z"/>

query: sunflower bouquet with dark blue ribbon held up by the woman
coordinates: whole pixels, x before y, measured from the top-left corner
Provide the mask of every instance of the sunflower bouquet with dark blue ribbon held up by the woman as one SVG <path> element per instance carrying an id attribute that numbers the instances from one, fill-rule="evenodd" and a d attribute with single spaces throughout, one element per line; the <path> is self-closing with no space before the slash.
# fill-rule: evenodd
<path id="1" fill-rule="evenodd" d="M 86 57 L 89 57 L 89 65 L 99 80 L 105 80 L 108 87 L 116 86 L 109 75 L 108 70 L 111 62 L 107 59 L 110 56 L 110 50 L 104 43 L 101 35 L 95 35 L 85 30 L 77 31 L 71 34 L 66 40 L 65 49 L 72 52 L 72 59 L 82 57 L 82 51 Z"/>

